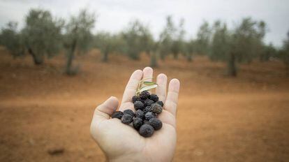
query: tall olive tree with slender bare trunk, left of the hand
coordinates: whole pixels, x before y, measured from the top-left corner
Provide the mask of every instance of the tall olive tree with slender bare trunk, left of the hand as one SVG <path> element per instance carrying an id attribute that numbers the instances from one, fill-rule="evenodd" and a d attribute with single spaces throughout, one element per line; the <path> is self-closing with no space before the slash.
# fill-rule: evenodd
<path id="1" fill-rule="evenodd" d="M 68 75 L 73 75 L 78 71 L 78 68 L 72 67 L 75 51 L 83 54 L 89 50 L 93 40 L 91 29 L 94 28 L 95 22 L 94 13 L 80 10 L 80 13 L 77 16 L 72 16 L 68 24 L 66 24 L 64 46 L 67 51 L 66 73 Z"/>

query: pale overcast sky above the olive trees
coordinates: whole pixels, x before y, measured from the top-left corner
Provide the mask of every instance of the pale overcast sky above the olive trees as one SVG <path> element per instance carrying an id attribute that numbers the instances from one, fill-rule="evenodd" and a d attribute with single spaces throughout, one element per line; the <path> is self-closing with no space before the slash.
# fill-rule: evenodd
<path id="1" fill-rule="evenodd" d="M 289 30 L 289 0 L 0 0 L 0 27 L 10 20 L 22 27 L 30 8 L 47 9 L 64 18 L 88 8 L 98 15 L 94 32 L 117 32 L 139 19 L 149 25 L 155 38 L 165 25 L 166 15 L 172 15 L 176 23 L 184 17 L 187 38 L 195 37 L 204 20 L 212 23 L 220 19 L 232 27 L 247 16 L 267 22 L 267 43 L 280 46 Z"/>

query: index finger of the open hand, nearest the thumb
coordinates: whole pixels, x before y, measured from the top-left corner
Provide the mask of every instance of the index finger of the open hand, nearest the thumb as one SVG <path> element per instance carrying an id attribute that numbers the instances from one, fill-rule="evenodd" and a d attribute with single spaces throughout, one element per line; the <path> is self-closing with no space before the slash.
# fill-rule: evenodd
<path id="1" fill-rule="evenodd" d="M 142 79 L 142 71 L 137 70 L 131 74 L 131 78 L 126 84 L 126 89 L 124 90 L 124 96 L 122 97 L 121 103 L 130 102 L 133 95 L 135 95 L 136 90 L 138 89 L 138 83 Z"/>

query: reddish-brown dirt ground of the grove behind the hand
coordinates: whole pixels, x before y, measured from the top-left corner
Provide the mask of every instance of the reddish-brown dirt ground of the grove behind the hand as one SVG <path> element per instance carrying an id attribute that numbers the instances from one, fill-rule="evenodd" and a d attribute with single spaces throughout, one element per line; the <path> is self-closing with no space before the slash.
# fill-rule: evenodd
<path id="1" fill-rule="evenodd" d="M 0 51 L 0 161 L 105 161 L 89 135 L 96 105 L 121 99 L 129 75 L 149 58 L 130 61 L 98 52 L 77 57 L 79 75 L 63 74 L 63 57 L 34 66 Z M 196 57 L 160 61 L 154 75 L 179 78 L 174 161 L 288 161 L 289 79 L 280 61 L 239 66 Z M 53 149 L 62 153 L 51 155 Z"/>

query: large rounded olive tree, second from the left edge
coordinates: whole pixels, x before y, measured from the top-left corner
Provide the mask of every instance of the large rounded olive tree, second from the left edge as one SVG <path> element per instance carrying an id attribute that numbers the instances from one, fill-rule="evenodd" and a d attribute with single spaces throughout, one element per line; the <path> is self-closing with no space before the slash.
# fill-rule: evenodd
<path id="1" fill-rule="evenodd" d="M 48 10 L 31 9 L 22 29 L 24 43 L 35 64 L 43 64 L 44 57 L 52 57 L 61 49 L 63 20 L 55 20 Z"/>

